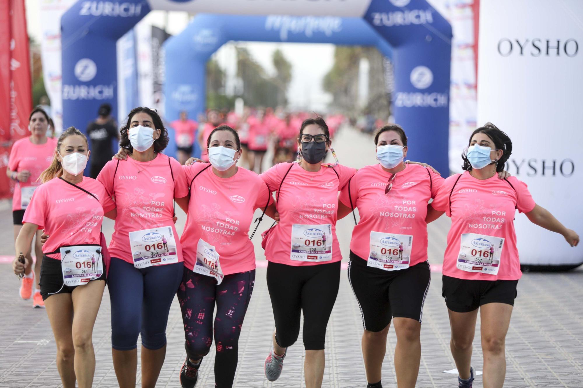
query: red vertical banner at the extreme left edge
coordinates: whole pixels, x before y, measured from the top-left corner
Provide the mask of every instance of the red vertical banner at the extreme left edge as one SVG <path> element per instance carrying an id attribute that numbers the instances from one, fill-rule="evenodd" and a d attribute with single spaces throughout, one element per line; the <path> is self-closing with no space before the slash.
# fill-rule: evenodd
<path id="1" fill-rule="evenodd" d="M 0 198 L 10 196 L 8 167 L 10 151 L 10 4 L 0 1 Z"/>

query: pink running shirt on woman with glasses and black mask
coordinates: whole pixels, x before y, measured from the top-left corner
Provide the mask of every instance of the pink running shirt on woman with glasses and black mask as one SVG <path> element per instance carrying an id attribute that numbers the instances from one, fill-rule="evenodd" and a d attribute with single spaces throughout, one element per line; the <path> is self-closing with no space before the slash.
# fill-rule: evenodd
<path id="1" fill-rule="evenodd" d="M 266 236 L 265 256 L 270 262 L 289 266 L 312 266 L 342 260 L 340 245 L 336 238 L 338 218 L 338 191 L 356 172 L 356 168 L 337 165 L 320 168 L 320 171 L 305 171 L 298 163 L 279 163 L 261 174 L 270 191 L 278 191 L 283 181 L 277 204 L 280 221 Z M 332 225 L 332 260 L 327 262 L 303 262 L 291 260 L 291 229 L 293 224 Z M 328 241 L 327 244 L 330 244 Z"/>

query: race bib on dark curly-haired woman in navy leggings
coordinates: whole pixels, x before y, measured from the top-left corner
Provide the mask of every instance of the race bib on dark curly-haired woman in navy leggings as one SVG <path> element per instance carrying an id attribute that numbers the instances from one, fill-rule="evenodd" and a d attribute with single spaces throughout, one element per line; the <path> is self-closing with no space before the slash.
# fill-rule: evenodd
<path id="1" fill-rule="evenodd" d="M 170 226 L 129 232 L 129 246 L 136 268 L 178 263 L 174 231 Z"/>

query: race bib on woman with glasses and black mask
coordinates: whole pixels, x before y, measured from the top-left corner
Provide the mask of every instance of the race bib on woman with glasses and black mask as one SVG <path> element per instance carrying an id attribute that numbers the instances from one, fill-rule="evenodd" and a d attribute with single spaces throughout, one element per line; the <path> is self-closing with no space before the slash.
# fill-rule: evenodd
<path id="1" fill-rule="evenodd" d="M 332 260 L 332 225 L 293 224 L 290 259 L 298 262 Z"/>

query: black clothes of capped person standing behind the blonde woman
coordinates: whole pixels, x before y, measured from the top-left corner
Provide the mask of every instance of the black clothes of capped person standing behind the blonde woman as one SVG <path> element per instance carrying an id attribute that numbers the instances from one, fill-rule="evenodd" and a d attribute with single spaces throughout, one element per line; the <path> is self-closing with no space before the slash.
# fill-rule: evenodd
<path id="1" fill-rule="evenodd" d="M 97 178 L 101 168 L 113 156 L 113 140 L 117 139 L 117 125 L 113 120 L 104 124 L 94 121 L 87 125 L 87 137 L 91 141 L 91 177 Z"/>

